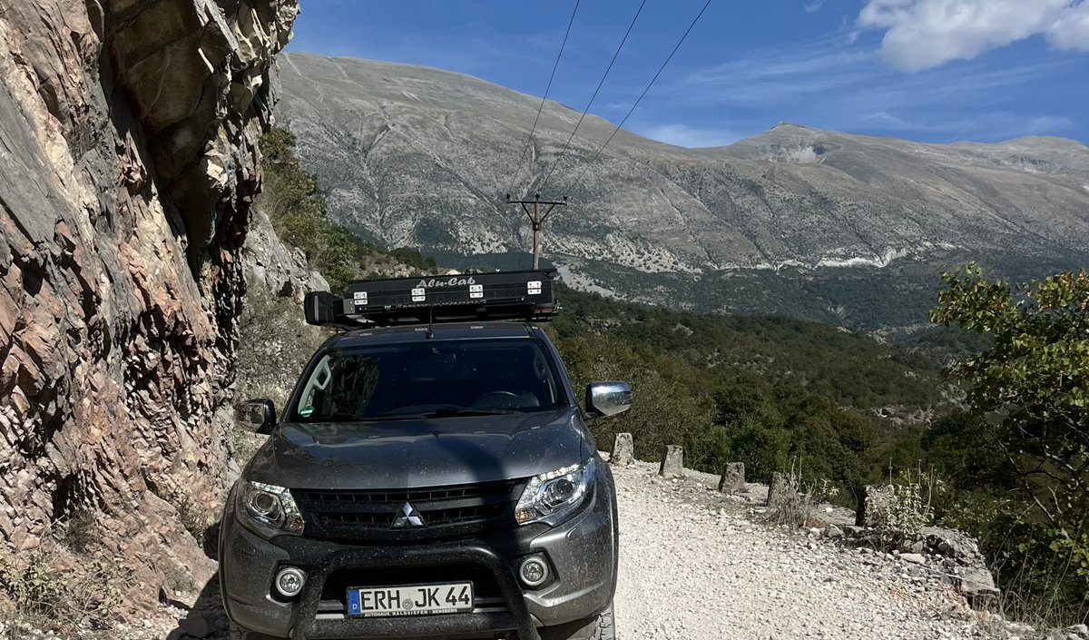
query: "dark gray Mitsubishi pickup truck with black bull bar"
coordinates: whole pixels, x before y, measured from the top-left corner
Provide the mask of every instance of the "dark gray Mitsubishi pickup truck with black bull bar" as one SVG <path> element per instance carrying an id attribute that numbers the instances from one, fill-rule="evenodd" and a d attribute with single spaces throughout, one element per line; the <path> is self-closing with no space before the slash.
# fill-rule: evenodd
<path id="1" fill-rule="evenodd" d="M 538 292 L 551 276 L 515 275 Z M 220 529 L 235 638 L 615 638 L 616 500 L 586 421 L 625 410 L 631 390 L 595 382 L 580 409 L 536 324 L 551 287 L 519 311 L 489 278 L 462 280 L 450 286 L 484 295 L 451 313 L 443 291 L 439 316 L 469 322 L 308 300 L 313 323 L 365 328 L 318 349 L 279 420 L 246 404 L 269 440 Z M 523 311 L 535 322 L 510 321 Z"/>

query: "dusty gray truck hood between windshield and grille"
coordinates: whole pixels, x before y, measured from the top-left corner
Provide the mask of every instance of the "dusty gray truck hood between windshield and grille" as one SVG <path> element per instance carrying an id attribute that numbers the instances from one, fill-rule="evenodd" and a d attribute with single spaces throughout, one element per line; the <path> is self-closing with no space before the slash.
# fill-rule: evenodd
<path id="1" fill-rule="evenodd" d="M 589 455 L 574 407 L 386 422 L 281 422 L 244 477 L 291 489 L 413 489 L 528 478 Z"/>

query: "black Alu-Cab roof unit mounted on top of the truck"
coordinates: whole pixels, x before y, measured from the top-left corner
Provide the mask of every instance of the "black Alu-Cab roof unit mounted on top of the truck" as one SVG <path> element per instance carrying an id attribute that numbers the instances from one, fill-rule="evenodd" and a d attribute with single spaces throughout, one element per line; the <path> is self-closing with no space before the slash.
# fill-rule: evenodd
<path id="1" fill-rule="evenodd" d="M 555 269 L 357 280 L 343 296 L 306 294 L 306 322 L 357 329 L 473 320 L 550 320 Z"/>

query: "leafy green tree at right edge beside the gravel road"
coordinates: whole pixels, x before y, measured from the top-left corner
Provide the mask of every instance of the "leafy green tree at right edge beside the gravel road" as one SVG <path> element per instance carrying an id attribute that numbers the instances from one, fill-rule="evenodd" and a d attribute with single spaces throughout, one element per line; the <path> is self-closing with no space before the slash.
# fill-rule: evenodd
<path id="1" fill-rule="evenodd" d="M 976 264 L 943 275 L 931 319 L 993 339 L 950 368 L 975 419 L 943 424 L 941 438 L 971 442 L 1004 468 L 1031 510 L 1007 530 L 1066 558 L 1079 580 L 1067 604 L 1089 608 L 1089 273 L 1042 282 L 990 281 Z M 957 433 L 956 428 L 971 429 Z M 959 461 L 965 465 L 964 460 Z M 1054 578 L 1054 576 L 1052 576 Z M 1059 578 L 1069 582 L 1068 579 Z M 1080 593 L 1078 593 L 1080 592 Z M 1080 600 L 1080 602 L 1078 602 Z"/>

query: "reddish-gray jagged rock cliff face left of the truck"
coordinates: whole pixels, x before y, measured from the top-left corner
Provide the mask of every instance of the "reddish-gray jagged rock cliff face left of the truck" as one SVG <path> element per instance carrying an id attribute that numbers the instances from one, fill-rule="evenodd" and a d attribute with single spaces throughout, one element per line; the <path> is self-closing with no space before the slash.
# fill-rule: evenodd
<path id="1" fill-rule="evenodd" d="M 229 476 L 256 139 L 296 13 L 0 0 L 0 554 L 90 512 L 107 551 L 210 570 L 182 520 Z"/>

